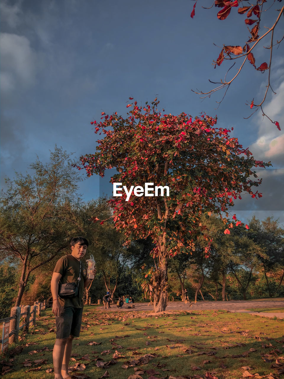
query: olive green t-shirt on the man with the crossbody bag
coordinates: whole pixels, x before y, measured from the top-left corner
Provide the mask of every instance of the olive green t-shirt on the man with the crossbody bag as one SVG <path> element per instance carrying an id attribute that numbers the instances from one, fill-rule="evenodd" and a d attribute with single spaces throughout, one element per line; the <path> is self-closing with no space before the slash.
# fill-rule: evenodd
<path id="1" fill-rule="evenodd" d="M 61 279 L 59 280 L 60 284 L 72 282 L 78 283 L 80 262 L 75 257 L 73 257 L 72 254 L 64 255 L 64 257 L 61 257 L 57 261 L 53 272 L 62 275 Z M 81 262 L 81 280 L 79 281 L 78 294 L 71 299 L 61 299 L 59 297 L 58 300 L 62 307 L 83 308 L 84 280 L 86 279 L 86 268 L 83 262 Z"/>

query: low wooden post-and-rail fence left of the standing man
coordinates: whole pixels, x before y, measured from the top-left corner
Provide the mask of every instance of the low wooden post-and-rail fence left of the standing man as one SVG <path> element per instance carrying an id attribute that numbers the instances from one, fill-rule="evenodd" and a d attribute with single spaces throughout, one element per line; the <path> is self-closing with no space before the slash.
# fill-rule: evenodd
<path id="1" fill-rule="evenodd" d="M 29 332 L 30 327 L 36 326 L 36 316 L 46 309 L 46 301 L 35 301 L 33 306 L 20 305 L 11 309 L 11 316 L 0 319 L 2 323 L 1 352 L 8 350 L 9 343 L 18 341 L 19 331 Z"/>

